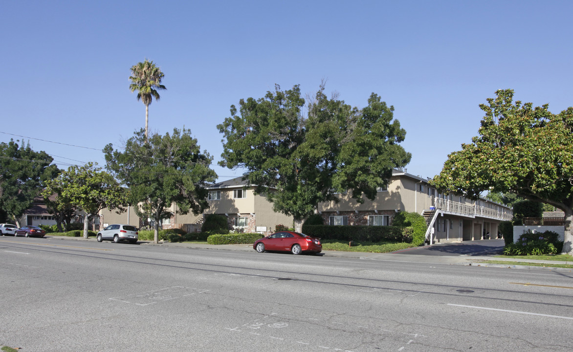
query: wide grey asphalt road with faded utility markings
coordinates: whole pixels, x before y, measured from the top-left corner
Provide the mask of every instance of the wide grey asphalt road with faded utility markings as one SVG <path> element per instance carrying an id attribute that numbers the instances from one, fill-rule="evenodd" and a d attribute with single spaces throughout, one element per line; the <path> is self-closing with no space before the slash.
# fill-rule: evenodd
<path id="1" fill-rule="evenodd" d="M 438 259 L 0 237 L 0 345 L 23 352 L 573 349 L 570 270 Z"/>

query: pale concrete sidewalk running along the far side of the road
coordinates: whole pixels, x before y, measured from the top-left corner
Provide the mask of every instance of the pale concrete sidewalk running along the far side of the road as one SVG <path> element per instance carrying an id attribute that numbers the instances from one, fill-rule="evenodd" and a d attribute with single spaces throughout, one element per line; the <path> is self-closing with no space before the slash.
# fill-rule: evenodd
<path id="1" fill-rule="evenodd" d="M 46 235 L 46 238 L 61 238 L 68 240 L 78 240 L 78 241 L 97 241 L 95 237 L 88 238 L 87 240 L 83 237 L 66 237 L 66 236 L 50 236 Z M 474 241 L 475 242 L 475 241 Z M 190 248 L 190 249 L 213 249 L 218 251 L 238 251 L 238 252 L 254 252 L 252 244 L 221 244 L 221 245 L 211 245 L 203 243 L 171 243 L 167 241 L 161 241 L 159 244 L 154 244 L 151 241 L 138 241 L 139 245 L 152 245 L 152 246 L 163 246 L 172 248 Z M 447 244 L 439 244 L 425 247 L 418 247 L 415 249 L 427 249 L 430 251 L 433 246 L 444 246 Z M 460 243 L 452 244 L 452 246 L 459 246 Z M 434 247 L 435 248 L 435 247 Z M 347 259 L 362 259 L 362 260 L 389 260 L 389 261 L 405 261 L 411 263 L 434 263 L 434 264 L 458 264 L 458 265 L 480 265 L 488 267 L 528 267 L 525 263 L 539 263 L 539 264 L 571 264 L 573 261 L 557 261 L 557 260 L 535 260 L 535 259 L 512 259 L 512 258 L 498 258 L 494 255 L 484 255 L 484 256 L 473 256 L 468 254 L 462 254 L 458 256 L 454 255 L 412 255 L 407 253 L 368 253 L 368 252 L 341 252 L 341 251 L 323 251 L 320 256 L 323 257 L 333 257 L 333 258 L 347 258 Z M 513 261 L 518 263 L 524 263 L 523 265 L 504 265 L 504 264 L 487 264 L 482 263 L 482 260 L 499 260 L 499 261 Z M 538 268 L 538 267 L 535 267 Z"/>

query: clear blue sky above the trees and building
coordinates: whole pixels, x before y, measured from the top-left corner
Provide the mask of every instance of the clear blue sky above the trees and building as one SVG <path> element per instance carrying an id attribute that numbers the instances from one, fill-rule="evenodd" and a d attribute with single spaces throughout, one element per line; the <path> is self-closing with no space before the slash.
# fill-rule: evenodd
<path id="1" fill-rule="evenodd" d="M 167 87 L 150 130 L 190 128 L 214 163 L 231 104 L 274 84 L 312 95 L 325 79 L 347 104 L 375 92 L 394 105 L 408 172 L 433 177 L 497 89 L 552 112 L 573 105 L 571 13 L 570 1 L 5 0 L 0 142 L 42 139 L 31 146 L 61 168 L 103 166 L 98 150 L 144 126 L 128 77 L 148 58 Z"/>

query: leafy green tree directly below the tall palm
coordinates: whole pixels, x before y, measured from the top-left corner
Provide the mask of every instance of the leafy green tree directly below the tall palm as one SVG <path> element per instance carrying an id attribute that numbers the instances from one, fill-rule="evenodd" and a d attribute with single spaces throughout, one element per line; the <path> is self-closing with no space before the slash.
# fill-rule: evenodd
<path id="1" fill-rule="evenodd" d="M 154 243 L 159 224 L 170 218 L 171 204 L 179 214 L 200 214 L 208 208 L 206 187 L 217 179 L 210 169 L 213 158 L 201 152 L 191 131 L 174 128 L 172 134 L 154 134 L 148 142 L 143 130 L 125 143 L 124 151 L 104 148 L 107 169 L 129 187 L 129 203 L 140 217 L 155 220 Z"/>

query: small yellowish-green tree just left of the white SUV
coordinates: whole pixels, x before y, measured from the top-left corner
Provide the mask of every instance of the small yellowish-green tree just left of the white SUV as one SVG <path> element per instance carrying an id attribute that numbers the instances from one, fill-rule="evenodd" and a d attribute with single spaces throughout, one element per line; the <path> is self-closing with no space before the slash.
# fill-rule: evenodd
<path id="1" fill-rule="evenodd" d="M 113 176 L 97 164 L 87 163 L 84 166 L 70 166 L 58 175 L 56 181 L 49 183 L 57 191 L 62 204 L 69 204 L 84 210 L 84 238 L 88 238 L 88 224 L 101 209 L 125 212 L 127 190 Z"/>

